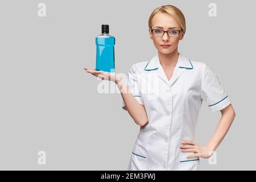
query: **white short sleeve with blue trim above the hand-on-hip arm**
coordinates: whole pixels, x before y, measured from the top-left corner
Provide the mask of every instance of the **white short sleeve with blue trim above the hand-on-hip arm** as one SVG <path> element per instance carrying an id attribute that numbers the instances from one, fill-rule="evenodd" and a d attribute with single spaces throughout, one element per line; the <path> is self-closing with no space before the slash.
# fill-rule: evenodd
<path id="1" fill-rule="evenodd" d="M 224 109 L 230 104 L 229 97 L 218 80 L 216 73 L 206 64 L 203 65 L 201 87 L 201 99 L 207 102 L 212 113 Z"/>

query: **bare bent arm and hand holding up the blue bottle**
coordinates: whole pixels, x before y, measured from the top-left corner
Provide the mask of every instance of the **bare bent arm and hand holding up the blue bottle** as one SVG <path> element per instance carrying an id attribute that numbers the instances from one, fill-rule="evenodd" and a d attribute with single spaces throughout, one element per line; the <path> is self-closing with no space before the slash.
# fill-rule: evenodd
<path id="1" fill-rule="evenodd" d="M 122 77 L 119 76 L 118 73 L 95 71 L 86 67 L 84 69 L 86 72 L 92 73 L 92 75 L 99 77 L 102 80 L 109 80 L 115 82 L 121 92 L 121 96 L 123 98 L 123 101 L 125 102 L 126 109 L 131 115 L 131 118 L 133 118 L 134 122 L 137 123 L 137 125 L 139 126 L 144 126 L 147 123 L 148 119 L 145 107 L 139 104 L 139 102 L 134 98 L 128 86 L 125 84 L 125 81 L 123 81 Z"/>

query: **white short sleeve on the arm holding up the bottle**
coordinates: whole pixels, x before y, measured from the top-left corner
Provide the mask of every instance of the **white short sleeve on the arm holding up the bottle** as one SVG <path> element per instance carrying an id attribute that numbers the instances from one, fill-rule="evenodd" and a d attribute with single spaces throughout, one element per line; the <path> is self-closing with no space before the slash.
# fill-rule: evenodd
<path id="1" fill-rule="evenodd" d="M 139 104 L 144 105 L 141 94 L 139 92 L 139 83 L 138 83 L 138 75 L 136 73 L 135 65 L 133 65 L 128 72 L 127 82 L 126 82 L 131 94 L 133 97 L 139 102 Z M 126 109 L 125 102 L 122 100 L 122 108 Z"/>

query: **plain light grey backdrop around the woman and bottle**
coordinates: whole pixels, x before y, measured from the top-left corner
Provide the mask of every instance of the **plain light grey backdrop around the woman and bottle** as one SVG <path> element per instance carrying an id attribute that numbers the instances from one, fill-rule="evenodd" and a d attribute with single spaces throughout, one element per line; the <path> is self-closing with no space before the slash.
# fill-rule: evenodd
<path id="1" fill-rule="evenodd" d="M 46 17 L 38 3 L 46 3 Z M 210 2 L 217 17 L 208 16 Z M 156 48 L 148 17 L 175 5 L 187 21 L 179 52 L 217 73 L 236 119 L 217 149 L 217 165 L 201 169 L 256 169 L 254 1 L 0 2 L 0 169 L 126 170 L 139 132 L 118 93 L 99 94 L 94 68 L 101 24 L 115 36 L 115 66 L 127 73 Z M 221 117 L 204 103 L 196 142 L 204 146 Z M 38 151 L 47 164 L 38 164 Z"/>

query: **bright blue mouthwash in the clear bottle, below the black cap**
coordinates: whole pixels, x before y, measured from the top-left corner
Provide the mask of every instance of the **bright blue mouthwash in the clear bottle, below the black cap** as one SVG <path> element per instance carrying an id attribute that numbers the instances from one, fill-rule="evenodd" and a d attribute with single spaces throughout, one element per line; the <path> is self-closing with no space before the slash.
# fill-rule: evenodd
<path id="1" fill-rule="evenodd" d="M 115 38 L 110 35 L 99 35 L 96 41 L 96 71 L 115 72 Z"/>

